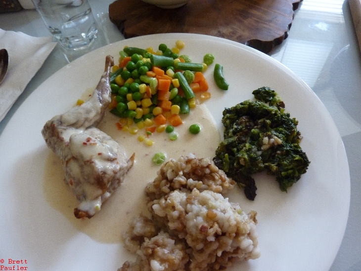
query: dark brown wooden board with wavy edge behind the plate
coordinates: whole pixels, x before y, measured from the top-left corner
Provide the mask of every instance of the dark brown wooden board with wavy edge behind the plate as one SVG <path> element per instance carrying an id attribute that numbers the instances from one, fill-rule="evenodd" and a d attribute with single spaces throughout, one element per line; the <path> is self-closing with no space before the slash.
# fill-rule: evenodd
<path id="1" fill-rule="evenodd" d="M 302 0 L 189 0 L 162 9 L 141 0 L 116 0 L 109 18 L 126 39 L 158 33 L 226 38 L 269 53 L 288 36 Z"/>

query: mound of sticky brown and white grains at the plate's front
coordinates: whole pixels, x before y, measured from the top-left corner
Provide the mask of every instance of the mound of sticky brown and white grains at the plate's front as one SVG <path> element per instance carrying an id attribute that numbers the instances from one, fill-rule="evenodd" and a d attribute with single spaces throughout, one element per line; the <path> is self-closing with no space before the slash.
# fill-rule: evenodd
<path id="1" fill-rule="evenodd" d="M 118 271 L 224 270 L 259 258 L 257 213 L 222 195 L 234 185 L 211 158 L 164 163 L 146 187 L 149 213 L 135 217 L 124 236 L 137 259 Z"/>

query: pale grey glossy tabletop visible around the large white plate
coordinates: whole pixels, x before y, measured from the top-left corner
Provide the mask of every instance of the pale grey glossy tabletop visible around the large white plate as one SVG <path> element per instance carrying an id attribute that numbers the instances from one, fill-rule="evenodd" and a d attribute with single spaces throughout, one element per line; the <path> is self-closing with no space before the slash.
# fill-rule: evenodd
<path id="1" fill-rule="evenodd" d="M 109 20 L 108 6 L 113 0 L 89 1 L 101 30 L 91 50 L 123 40 Z M 34 37 L 50 36 L 35 10 L 0 14 L 0 28 Z M 351 202 L 345 236 L 330 271 L 360 271 L 361 167 L 357 158 L 361 157 L 361 55 L 348 1 L 303 0 L 295 11 L 288 38 L 269 55 L 312 88 L 341 134 L 350 167 Z M 55 47 L 0 122 L 0 134 L 22 102 L 46 78 L 76 57 Z M 335 223 L 336 217 L 337 214 Z"/>

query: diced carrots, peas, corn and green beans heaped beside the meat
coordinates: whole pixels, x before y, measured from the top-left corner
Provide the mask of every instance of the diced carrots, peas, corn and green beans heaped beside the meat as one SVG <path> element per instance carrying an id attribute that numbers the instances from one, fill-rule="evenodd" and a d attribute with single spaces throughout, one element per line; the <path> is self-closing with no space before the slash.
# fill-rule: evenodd
<path id="1" fill-rule="evenodd" d="M 189 55 L 180 54 L 184 43 L 173 48 L 160 44 L 158 50 L 125 47 L 119 54 L 119 64 L 110 76 L 113 94 L 110 112 L 119 116 L 117 126 L 151 146 L 154 132 L 168 133 L 176 140 L 175 127 L 183 123 L 182 114 L 211 97 L 203 72 L 214 61 L 205 54 L 203 63 L 194 63 Z M 189 132 L 197 134 L 200 127 L 192 124 Z"/>

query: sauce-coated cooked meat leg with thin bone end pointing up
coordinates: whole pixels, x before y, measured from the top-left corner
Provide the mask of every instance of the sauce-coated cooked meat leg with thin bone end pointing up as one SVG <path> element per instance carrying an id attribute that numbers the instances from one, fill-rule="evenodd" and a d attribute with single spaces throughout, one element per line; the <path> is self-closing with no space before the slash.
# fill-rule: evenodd
<path id="1" fill-rule="evenodd" d="M 92 217 L 123 181 L 134 163 L 110 136 L 95 128 L 111 101 L 109 83 L 113 57 L 105 60 L 105 71 L 89 101 L 54 116 L 42 130 L 47 146 L 62 160 L 65 182 L 80 204 L 77 218 Z"/>

